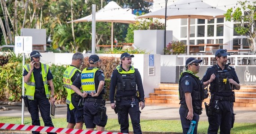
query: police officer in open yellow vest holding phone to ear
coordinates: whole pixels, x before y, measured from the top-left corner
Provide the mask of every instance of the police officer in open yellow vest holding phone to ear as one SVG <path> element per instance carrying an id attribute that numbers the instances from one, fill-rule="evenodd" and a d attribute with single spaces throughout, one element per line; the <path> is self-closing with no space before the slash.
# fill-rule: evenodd
<path id="1" fill-rule="evenodd" d="M 32 125 L 40 126 L 39 110 L 44 121 L 44 126 L 53 126 L 50 117 L 50 103 L 54 104 L 53 75 L 49 65 L 40 63 L 41 54 L 34 50 L 30 54 L 30 64 L 24 65 L 24 82 L 26 88 L 26 97 L 29 101 L 28 111 L 31 114 Z M 51 87 L 49 92 L 48 84 Z M 38 109 L 39 108 L 39 109 Z M 40 134 L 32 131 L 32 134 Z M 56 134 L 56 133 L 48 133 Z"/>

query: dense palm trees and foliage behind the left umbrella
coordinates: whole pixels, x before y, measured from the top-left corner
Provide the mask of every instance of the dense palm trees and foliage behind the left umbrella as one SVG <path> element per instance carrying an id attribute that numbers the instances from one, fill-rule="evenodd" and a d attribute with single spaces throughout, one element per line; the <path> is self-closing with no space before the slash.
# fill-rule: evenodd
<path id="1" fill-rule="evenodd" d="M 103 1 L 103 3 L 101 3 Z M 67 24 L 68 21 L 88 16 L 92 4 L 96 11 L 110 0 L 0 0 L 0 45 L 14 44 L 14 36 L 20 36 L 22 28 L 46 29 L 51 37 L 53 50 L 75 52 L 91 50 L 91 22 Z M 148 13 L 151 3 L 143 0 L 114 0 L 121 7 Z M 15 11 L 17 16 L 15 16 Z M 132 11 L 131 11 L 132 12 Z M 125 42 L 128 24 L 114 23 L 114 38 Z M 111 23 L 96 23 L 96 43 L 110 44 Z"/>

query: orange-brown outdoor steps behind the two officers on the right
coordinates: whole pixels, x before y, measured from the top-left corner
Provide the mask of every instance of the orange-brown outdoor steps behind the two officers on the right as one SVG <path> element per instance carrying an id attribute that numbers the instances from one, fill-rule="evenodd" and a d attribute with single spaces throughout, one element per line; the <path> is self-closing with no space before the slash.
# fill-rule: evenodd
<path id="1" fill-rule="evenodd" d="M 235 90 L 234 106 L 240 107 L 256 107 L 256 85 L 241 85 L 240 90 Z M 154 92 L 145 98 L 146 102 L 150 103 L 166 103 L 178 105 L 179 91 L 178 84 L 159 84 L 159 88 L 154 88 Z M 209 103 L 210 99 L 204 101 Z"/>

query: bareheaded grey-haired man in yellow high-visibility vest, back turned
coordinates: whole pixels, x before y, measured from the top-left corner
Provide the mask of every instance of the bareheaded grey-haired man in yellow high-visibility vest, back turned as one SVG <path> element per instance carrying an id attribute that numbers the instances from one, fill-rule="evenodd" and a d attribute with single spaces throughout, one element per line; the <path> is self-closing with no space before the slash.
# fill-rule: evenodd
<path id="1" fill-rule="evenodd" d="M 67 128 L 69 129 L 73 129 L 74 127 L 75 129 L 83 128 L 84 110 L 83 107 L 78 106 L 79 100 L 82 99 L 82 97 L 71 89 L 72 83 L 80 76 L 81 71 L 79 68 L 83 63 L 84 55 L 77 52 L 73 54 L 71 65 L 63 73 L 63 84 L 67 91 L 66 121 L 68 122 Z"/>

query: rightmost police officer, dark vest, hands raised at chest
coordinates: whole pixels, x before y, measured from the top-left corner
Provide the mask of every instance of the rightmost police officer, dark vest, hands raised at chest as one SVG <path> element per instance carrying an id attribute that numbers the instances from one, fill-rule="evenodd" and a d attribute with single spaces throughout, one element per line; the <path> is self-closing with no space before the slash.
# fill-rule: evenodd
<path id="1" fill-rule="evenodd" d="M 215 53 L 216 65 L 209 67 L 203 76 L 203 84 L 210 84 L 211 100 L 207 110 L 208 134 L 230 134 L 234 125 L 234 92 L 240 84 L 234 67 L 227 64 L 226 50 L 219 49 Z"/>

